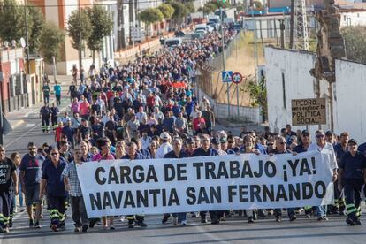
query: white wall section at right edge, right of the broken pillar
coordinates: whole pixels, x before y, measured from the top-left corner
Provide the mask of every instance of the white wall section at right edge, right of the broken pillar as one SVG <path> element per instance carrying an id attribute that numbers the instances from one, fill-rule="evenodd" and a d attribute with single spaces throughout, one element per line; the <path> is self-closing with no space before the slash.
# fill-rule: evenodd
<path id="1" fill-rule="evenodd" d="M 366 141 L 366 65 L 336 60 L 334 127 L 359 143 Z"/>

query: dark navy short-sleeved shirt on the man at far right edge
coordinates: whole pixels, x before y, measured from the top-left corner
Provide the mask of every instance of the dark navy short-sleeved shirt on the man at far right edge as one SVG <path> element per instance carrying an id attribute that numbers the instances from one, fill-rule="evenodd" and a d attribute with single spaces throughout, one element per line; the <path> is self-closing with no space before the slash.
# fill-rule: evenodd
<path id="1" fill-rule="evenodd" d="M 366 156 L 361 152 L 356 152 L 355 156 L 347 152 L 340 159 L 339 169 L 343 170 L 343 179 L 363 179 L 363 170 L 366 169 Z"/>

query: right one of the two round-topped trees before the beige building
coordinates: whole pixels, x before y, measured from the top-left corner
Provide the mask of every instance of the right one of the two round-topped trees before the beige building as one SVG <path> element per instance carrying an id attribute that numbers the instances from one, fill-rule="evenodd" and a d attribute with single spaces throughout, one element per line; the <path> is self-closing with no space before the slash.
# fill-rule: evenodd
<path id="1" fill-rule="evenodd" d="M 95 51 L 99 51 L 103 46 L 103 38 L 111 34 L 113 30 L 113 19 L 108 11 L 99 5 L 88 8 L 88 18 L 92 26 L 91 34 L 88 38 L 88 48 L 93 52 L 93 64 L 95 64 Z"/>

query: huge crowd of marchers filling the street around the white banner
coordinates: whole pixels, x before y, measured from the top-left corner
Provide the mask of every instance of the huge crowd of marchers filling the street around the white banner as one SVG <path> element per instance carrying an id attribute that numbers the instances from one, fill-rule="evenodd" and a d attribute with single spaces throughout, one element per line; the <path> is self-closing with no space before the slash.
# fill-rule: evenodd
<path id="1" fill-rule="evenodd" d="M 225 45 L 234 32 L 225 31 Z M 12 226 L 14 195 L 25 196 L 29 226 L 41 228 L 42 205 L 47 202 L 50 228 L 57 232 L 65 226 L 65 211 L 71 205 L 75 232 L 101 224 L 114 229 L 116 217 L 88 218 L 78 179 L 76 165 L 113 159 L 182 158 L 192 156 L 222 156 L 255 153 L 284 154 L 310 150 L 330 150 L 335 188 L 332 206 L 304 206 L 286 209 L 290 221 L 301 210 L 305 217 L 328 220 L 329 214 L 347 215 L 349 225 L 360 225 L 360 192 L 365 179 L 366 146 L 357 147 L 348 133 L 336 136 L 332 132 L 316 131 L 311 142 L 309 132 L 293 132 L 290 125 L 280 133 L 247 131 L 239 135 L 215 131 L 215 115 L 210 101 L 198 100 L 194 93 L 194 71 L 222 49 L 217 32 L 204 39 L 192 40 L 174 48 L 162 48 L 155 55 L 146 54 L 136 61 L 118 67 L 103 66 L 99 74 L 91 67 L 89 78 L 84 72 L 74 73 L 69 87 L 70 107 L 58 108 L 61 87 L 54 87 L 57 103 L 48 103 L 40 110 L 43 133 L 54 133 L 55 146 L 29 142 L 29 152 L 20 156 L 5 156 L 0 147 L 0 179 L 3 232 Z M 77 81 L 80 81 L 79 86 Z M 45 101 L 49 101 L 50 86 L 44 84 Z M 47 98 L 47 99 L 46 99 Z M 356 158 L 356 159 L 355 159 Z M 357 164 L 353 164 L 353 162 Z M 363 171 L 362 171 L 363 170 Z M 18 184 L 19 183 L 19 184 Z M 341 194 L 344 188 L 344 194 Z M 346 198 L 346 202 L 344 201 Z M 46 201 L 45 201 L 46 200 Z M 22 201 L 22 200 L 20 200 Z M 328 208 L 329 207 L 329 208 Z M 248 223 L 274 215 L 282 220 L 283 210 L 209 211 L 215 225 L 233 214 L 246 216 Z M 206 212 L 164 214 L 162 223 L 172 217 L 173 224 L 187 225 L 187 216 L 207 222 Z M 119 219 L 119 217 L 117 218 Z M 146 227 L 142 215 L 127 216 L 128 227 Z"/>

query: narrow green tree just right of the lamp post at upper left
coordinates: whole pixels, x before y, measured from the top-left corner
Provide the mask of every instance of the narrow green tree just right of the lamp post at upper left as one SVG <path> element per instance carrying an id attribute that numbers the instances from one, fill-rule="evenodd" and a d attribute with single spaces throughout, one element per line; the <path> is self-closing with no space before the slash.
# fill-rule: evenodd
<path id="1" fill-rule="evenodd" d="M 28 25 L 29 52 L 35 54 L 40 49 L 40 39 L 45 25 L 45 21 L 43 19 L 42 11 L 38 7 L 35 6 L 28 7 L 27 13 L 29 16 L 28 23 L 31 24 L 30 27 Z"/>

